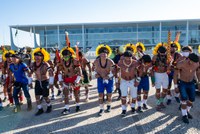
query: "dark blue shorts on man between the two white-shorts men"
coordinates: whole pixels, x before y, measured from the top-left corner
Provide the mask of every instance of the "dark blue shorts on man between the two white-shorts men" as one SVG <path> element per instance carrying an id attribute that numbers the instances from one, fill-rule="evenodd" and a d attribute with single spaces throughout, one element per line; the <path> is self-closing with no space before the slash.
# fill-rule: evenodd
<path id="1" fill-rule="evenodd" d="M 141 77 L 140 84 L 138 85 L 138 91 L 141 91 L 142 89 L 144 91 L 149 91 L 149 77 L 148 76 Z"/>

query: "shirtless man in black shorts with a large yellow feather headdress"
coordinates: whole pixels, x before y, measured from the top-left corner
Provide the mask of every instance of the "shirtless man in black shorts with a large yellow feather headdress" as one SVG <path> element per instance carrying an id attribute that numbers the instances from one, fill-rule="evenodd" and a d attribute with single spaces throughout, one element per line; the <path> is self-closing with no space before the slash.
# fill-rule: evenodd
<path id="1" fill-rule="evenodd" d="M 32 58 L 34 62 L 31 65 L 31 73 L 29 74 L 29 84 L 32 83 L 31 75 L 35 73 L 35 98 L 37 103 L 38 111 L 36 116 L 44 113 L 41 105 L 40 97 L 42 96 L 47 104 L 46 113 L 52 111 L 52 105 L 49 99 L 49 88 L 52 88 L 54 83 L 53 70 L 47 61 L 50 59 L 50 54 L 44 48 L 36 48 L 33 50 Z"/>

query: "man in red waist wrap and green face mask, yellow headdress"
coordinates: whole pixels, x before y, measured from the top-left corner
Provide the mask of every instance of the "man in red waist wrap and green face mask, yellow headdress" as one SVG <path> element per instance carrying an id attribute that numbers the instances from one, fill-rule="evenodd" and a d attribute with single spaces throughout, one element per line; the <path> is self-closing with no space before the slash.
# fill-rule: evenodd
<path id="1" fill-rule="evenodd" d="M 80 62 L 75 56 L 75 52 L 71 47 L 64 47 L 60 51 L 61 62 L 59 65 L 58 81 L 63 87 L 63 94 L 65 96 L 65 108 L 62 111 L 63 115 L 70 113 L 69 108 L 69 92 L 71 89 L 74 91 L 76 101 L 76 112 L 80 111 L 80 80 L 82 77 L 82 71 Z"/>

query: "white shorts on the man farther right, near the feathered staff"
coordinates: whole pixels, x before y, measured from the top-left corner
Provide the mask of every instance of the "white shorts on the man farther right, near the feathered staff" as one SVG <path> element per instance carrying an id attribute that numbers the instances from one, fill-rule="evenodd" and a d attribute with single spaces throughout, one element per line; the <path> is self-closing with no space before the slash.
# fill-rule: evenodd
<path id="1" fill-rule="evenodd" d="M 169 78 L 167 73 L 154 73 L 155 76 L 155 88 L 156 89 L 168 89 L 168 85 L 169 85 Z"/>

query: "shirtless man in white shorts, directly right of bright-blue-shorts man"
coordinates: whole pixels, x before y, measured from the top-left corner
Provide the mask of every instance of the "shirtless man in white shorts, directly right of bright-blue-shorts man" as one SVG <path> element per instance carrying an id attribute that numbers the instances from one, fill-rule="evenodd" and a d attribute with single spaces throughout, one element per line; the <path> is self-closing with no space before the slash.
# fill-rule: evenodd
<path id="1" fill-rule="evenodd" d="M 135 60 L 133 54 L 136 51 L 136 47 L 133 44 L 127 44 L 125 46 L 125 52 L 120 59 L 118 66 L 120 67 L 120 90 L 122 100 L 122 116 L 126 115 L 126 97 L 128 95 L 128 89 L 130 89 L 131 111 L 135 113 L 135 104 L 137 100 L 137 86 L 140 83 L 141 71 L 139 71 L 139 63 Z"/>

